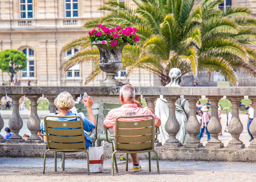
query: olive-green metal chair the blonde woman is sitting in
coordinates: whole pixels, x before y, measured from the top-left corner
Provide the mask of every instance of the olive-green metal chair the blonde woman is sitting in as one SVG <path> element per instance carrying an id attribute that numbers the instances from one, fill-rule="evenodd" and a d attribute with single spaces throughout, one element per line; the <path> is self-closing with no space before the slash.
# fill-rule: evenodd
<path id="1" fill-rule="evenodd" d="M 69 121 L 56 121 L 46 120 L 47 117 L 58 118 L 74 118 Z M 77 119 L 80 120 L 77 120 Z M 85 136 L 90 136 L 93 131 L 88 135 L 84 135 L 83 121 L 80 116 L 53 116 L 47 115 L 44 117 L 45 133 L 48 150 L 44 153 L 44 167 L 43 174 L 45 173 L 46 153 L 48 151 L 54 151 L 54 171 L 57 172 L 57 152 L 62 152 L 62 170 L 65 169 L 64 153 L 67 152 L 80 152 L 84 151 L 87 155 L 87 170 L 90 175 L 89 169 L 89 155 L 86 151 Z"/>

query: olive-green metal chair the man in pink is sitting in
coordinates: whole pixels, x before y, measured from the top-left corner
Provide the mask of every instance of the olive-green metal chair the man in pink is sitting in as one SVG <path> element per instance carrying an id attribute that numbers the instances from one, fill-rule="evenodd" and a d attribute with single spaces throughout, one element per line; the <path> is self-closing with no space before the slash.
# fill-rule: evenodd
<path id="1" fill-rule="evenodd" d="M 152 117 L 149 120 L 134 121 L 129 122 L 120 120 L 121 118 L 143 118 Z M 151 172 L 151 154 L 154 152 L 156 154 L 156 167 L 157 173 L 159 174 L 159 162 L 158 154 L 154 150 L 154 116 L 152 115 L 141 115 L 141 116 L 120 116 L 115 120 L 115 135 L 111 135 L 109 129 L 106 128 L 106 138 L 108 135 L 115 137 L 112 141 L 113 153 L 112 153 L 112 176 L 114 175 L 114 162 L 116 163 L 115 153 L 126 153 L 126 171 L 128 171 L 128 153 L 143 153 L 148 152 L 148 167 L 149 172 Z M 108 133 L 108 134 L 107 134 Z M 139 135 L 139 136 L 138 136 Z M 142 136 L 141 136 L 142 135 Z M 118 173 L 117 166 L 115 170 Z"/>

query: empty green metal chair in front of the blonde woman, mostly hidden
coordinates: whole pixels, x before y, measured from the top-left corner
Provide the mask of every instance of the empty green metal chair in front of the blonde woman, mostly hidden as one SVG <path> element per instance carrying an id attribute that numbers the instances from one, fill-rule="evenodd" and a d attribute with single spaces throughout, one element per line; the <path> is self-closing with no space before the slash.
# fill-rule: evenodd
<path id="1" fill-rule="evenodd" d="M 75 107 L 77 108 L 78 113 L 84 113 L 85 116 L 88 116 L 88 111 L 84 104 L 75 104 Z M 90 137 L 92 138 L 92 146 L 95 147 L 95 141 L 97 140 L 97 128 L 98 128 L 98 115 L 99 115 L 99 108 L 100 108 L 100 103 L 94 103 L 92 104 L 92 113 L 95 116 L 96 120 L 96 128 L 95 128 L 95 133 L 93 133 Z"/>

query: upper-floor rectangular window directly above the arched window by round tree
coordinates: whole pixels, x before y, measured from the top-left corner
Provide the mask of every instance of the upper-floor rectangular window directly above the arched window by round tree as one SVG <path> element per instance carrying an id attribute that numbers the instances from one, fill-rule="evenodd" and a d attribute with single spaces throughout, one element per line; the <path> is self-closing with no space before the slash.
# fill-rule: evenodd
<path id="1" fill-rule="evenodd" d="M 32 0 L 20 0 L 20 18 L 33 18 Z"/>

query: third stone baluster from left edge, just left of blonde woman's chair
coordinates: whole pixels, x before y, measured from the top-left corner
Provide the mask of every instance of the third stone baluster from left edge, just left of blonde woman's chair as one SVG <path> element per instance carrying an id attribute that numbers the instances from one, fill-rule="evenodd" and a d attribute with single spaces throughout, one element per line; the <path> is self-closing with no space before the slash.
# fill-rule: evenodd
<path id="1" fill-rule="evenodd" d="M 32 95 L 27 94 L 26 97 L 30 100 L 31 112 L 28 118 L 27 127 L 31 132 L 31 136 L 26 141 L 27 143 L 43 143 L 42 140 L 38 135 L 38 131 L 40 130 L 40 118 L 37 114 L 37 100 L 42 96 L 42 94 Z"/>

